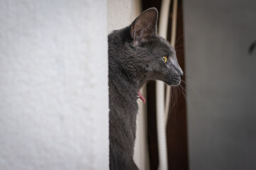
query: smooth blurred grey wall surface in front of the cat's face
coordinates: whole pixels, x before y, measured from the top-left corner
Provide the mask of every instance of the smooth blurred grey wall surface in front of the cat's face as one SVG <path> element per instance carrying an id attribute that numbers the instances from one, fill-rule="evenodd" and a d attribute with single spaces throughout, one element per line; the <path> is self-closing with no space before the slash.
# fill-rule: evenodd
<path id="1" fill-rule="evenodd" d="M 256 168 L 255 7 L 183 1 L 190 169 Z"/>

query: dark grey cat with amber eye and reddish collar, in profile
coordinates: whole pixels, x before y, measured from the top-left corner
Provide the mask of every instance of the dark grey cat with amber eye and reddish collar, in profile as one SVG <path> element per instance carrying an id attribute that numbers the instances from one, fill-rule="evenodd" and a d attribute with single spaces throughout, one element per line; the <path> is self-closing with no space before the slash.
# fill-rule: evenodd
<path id="1" fill-rule="evenodd" d="M 149 8 L 130 26 L 108 35 L 110 169 L 138 169 L 134 163 L 137 99 L 149 80 L 178 85 L 183 71 L 169 42 L 156 34 L 158 11 Z"/>

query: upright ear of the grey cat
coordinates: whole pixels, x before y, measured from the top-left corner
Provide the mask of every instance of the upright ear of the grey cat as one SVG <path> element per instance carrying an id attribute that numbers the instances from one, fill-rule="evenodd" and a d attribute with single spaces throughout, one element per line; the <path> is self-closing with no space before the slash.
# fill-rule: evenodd
<path id="1" fill-rule="evenodd" d="M 132 22 L 130 33 L 134 45 L 149 40 L 151 36 L 156 35 L 157 18 L 157 9 L 149 8 Z"/>

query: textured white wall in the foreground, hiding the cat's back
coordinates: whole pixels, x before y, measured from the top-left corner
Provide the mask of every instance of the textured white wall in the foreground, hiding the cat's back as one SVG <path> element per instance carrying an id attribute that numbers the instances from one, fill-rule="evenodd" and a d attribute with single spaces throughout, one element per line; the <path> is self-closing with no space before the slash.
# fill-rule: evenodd
<path id="1" fill-rule="evenodd" d="M 108 169 L 107 2 L 0 1 L 0 169 Z"/>

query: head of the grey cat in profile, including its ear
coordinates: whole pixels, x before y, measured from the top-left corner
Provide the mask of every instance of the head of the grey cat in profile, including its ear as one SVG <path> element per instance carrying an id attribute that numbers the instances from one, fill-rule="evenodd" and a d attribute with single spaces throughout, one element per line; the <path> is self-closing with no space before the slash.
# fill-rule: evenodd
<path id="1" fill-rule="evenodd" d="M 156 34 L 158 11 L 149 8 L 129 26 L 130 46 L 137 52 L 144 80 L 158 79 L 169 85 L 178 85 L 183 71 L 176 52 L 169 42 Z M 138 59 L 139 57 L 139 59 Z"/>

